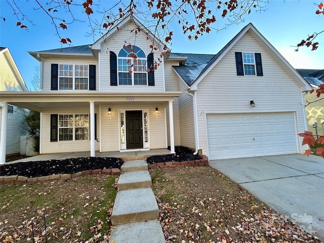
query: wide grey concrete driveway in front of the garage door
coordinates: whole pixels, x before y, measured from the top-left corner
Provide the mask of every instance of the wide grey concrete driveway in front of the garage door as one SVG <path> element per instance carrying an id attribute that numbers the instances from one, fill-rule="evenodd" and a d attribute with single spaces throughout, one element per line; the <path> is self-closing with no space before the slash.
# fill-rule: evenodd
<path id="1" fill-rule="evenodd" d="M 285 154 L 210 160 L 209 165 L 324 241 L 324 158 Z"/>

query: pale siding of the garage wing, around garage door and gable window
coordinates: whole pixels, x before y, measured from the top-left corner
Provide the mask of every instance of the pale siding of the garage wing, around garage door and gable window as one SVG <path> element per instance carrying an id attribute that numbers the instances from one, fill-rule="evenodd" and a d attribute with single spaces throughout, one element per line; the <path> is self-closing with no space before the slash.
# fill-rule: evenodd
<path id="1" fill-rule="evenodd" d="M 234 52 L 261 53 L 263 76 L 237 76 Z M 251 107 L 250 100 L 256 107 Z M 302 132 L 301 103 L 300 87 L 251 35 L 245 34 L 198 84 L 197 112 L 203 112 L 198 115 L 200 148 L 208 154 L 206 113 L 296 111 L 297 132 Z"/>

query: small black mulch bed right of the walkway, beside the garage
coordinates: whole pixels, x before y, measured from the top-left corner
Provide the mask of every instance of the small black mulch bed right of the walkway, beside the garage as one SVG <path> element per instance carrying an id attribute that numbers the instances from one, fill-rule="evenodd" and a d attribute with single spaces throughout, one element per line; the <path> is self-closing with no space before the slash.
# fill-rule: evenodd
<path id="1" fill-rule="evenodd" d="M 170 147 L 168 148 L 170 149 Z M 193 154 L 193 150 L 183 146 L 176 146 L 175 147 L 175 154 L 166 154 L 166 155 L 154 155 L 150 156 L 146 159 L 147 164 L 156 164 L 162 162 L 169 162 L 169 161 L 190 161 L 195 159 L 200 159 L 201 157 L 196 154 Z"/>

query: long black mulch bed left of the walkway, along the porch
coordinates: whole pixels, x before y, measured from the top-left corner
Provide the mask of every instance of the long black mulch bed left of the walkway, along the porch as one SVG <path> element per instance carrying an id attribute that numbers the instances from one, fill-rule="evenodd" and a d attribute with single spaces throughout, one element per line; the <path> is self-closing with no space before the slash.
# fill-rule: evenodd
<path id="1" fill-rule="evenodd" d="M 120 169 L 124 161 L 114 157 L 79 157 L 61 160 L 29 161 L 0 166 L 0 176 L 41 177 L 74 174 L 97 169 Z"/>

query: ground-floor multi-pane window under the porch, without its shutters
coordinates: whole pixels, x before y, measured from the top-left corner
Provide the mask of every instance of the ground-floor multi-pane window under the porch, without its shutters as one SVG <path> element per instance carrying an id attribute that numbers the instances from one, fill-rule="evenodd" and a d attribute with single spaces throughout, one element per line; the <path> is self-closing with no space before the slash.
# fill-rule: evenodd
<path id="1" fill-rule="evenodd" d="M 60 114 L 59 141 L 89 140 L 89 114 Z"/>

